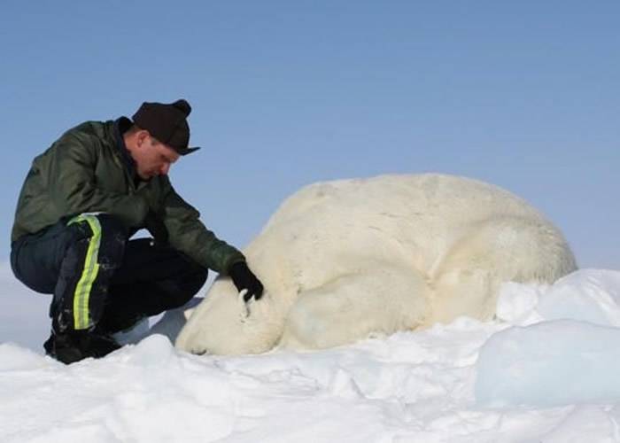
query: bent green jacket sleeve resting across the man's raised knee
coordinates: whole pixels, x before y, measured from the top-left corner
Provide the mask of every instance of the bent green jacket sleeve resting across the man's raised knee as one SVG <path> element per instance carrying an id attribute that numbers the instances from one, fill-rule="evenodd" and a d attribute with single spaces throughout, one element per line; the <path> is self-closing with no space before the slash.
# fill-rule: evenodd
<path id="1" fill-rule="evenodd" d="M 118 216 L 128 227 L 141 226 L 148 211 L 138 195 L 112 193 L 97 187 L 96 142 L 89 136 L 66 134 L 56 142 L 50 161 L 50 197 L 60 214 L 105 212 Z"/>

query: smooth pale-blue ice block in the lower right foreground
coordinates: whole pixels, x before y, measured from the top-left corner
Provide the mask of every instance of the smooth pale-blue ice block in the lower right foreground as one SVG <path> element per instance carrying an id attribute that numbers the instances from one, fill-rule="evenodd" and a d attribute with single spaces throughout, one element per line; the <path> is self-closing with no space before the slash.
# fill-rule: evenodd
<path id="1" fill-rule="evenodd" d="M 574 320 L 515 326 L 480 350 L 480 404 L 553 406 L 620 400 L 620 329 Z"/>

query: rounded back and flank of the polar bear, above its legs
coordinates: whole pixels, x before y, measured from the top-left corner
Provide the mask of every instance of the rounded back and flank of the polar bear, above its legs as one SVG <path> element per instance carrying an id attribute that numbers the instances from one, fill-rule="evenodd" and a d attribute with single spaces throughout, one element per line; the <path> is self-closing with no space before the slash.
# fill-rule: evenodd
<path id="1" fill-rule="evenodd" d="M 452 175 L 383 175 L 299 190 L 246 254 L 267 275 L 276 274 L 267 268 L 271 263 L 306 289 L 379 262 L 432 275 L 471 226 L 506 217 L 546 223 L 554 232 L 550 240 L 564 243 L 542 214 L 492 184 Z"/>

